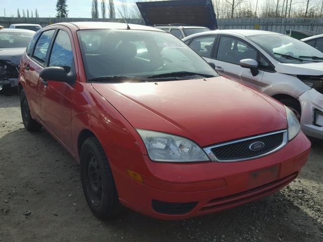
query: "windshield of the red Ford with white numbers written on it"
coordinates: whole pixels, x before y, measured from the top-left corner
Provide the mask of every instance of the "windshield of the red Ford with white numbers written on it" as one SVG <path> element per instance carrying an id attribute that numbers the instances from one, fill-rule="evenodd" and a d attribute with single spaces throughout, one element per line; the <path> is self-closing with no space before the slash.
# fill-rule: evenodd
<path id="1" fill-rule="evenodd" d="M 155 76 L 181 76 L 182 79 L 184 76 L 186 79 L 188 76 L 218 76 L 197 53 L 169 33 L 81 30 L 78 31 L 78 37 L 88 80 L 107 77 L 107 80 L 112 81 L 115 76 L 147 80 L 153 80 Z"/>

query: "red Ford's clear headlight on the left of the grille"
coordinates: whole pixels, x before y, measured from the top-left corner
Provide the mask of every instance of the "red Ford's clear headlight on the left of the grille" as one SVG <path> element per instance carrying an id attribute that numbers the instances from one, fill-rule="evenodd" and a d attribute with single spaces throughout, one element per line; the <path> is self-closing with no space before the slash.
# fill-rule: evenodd
<path id="1" fill-rule="evenodd" d="M 137 130 L 153 161 L 209 161 L 204 151 L 189 139 L 149 130 Z"/>

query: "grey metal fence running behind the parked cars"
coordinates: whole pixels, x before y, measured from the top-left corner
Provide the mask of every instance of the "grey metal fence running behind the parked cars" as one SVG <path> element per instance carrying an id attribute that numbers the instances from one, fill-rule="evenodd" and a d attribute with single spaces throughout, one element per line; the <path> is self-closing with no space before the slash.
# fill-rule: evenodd
<path id="1" fill-rule="evenodd" d="M 105 21 L 124 22 L 123 19 L 92 18 L 12 18 L 0 17 L 0 25 L 9 28 L 11 24 L 40 24 L 42 27 L 59 22 Z M 132 24 L 144 24 L 142 19 L 127 19 Z M 315 34 L 323 33 L 323 19 L 218 19 L 219 29 L 259 29 L 286 34 L 286 30 L 310 30 Z"/>

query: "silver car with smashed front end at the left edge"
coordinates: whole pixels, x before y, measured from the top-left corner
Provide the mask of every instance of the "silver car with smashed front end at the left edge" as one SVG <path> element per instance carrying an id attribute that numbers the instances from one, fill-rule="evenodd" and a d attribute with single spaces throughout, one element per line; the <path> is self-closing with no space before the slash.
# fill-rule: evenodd
<path id="1" fill-rule="evenodd" d="M 0 90 L 17 87 L 20 58 L 35 31 L 0 29 Z"/>

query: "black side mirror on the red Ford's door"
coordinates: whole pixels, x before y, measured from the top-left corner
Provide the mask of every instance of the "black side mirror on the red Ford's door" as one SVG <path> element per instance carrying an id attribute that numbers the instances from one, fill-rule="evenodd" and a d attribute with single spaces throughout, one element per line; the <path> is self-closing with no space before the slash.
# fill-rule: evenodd
<path id="1" fill-rule="evenodd" d="M 44 81 L 73 82 L 73 75 L 67 73 L 63 67 L 46 67 L 40 71 L 39 76 Z"/>

